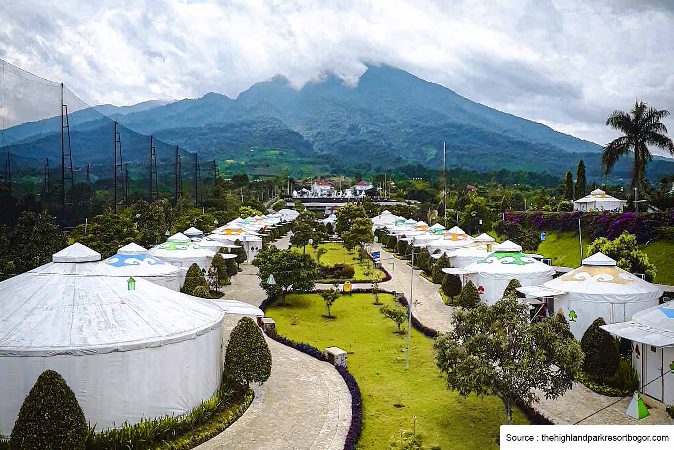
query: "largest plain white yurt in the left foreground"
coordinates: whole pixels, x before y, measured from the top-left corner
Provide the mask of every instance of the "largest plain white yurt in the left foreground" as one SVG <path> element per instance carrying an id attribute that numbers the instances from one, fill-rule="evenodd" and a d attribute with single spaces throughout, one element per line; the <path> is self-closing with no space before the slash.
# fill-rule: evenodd
<path id="1" fill-rule="evenodd" d="M 5 436 L 45 370 L 63 376 L 97 430 L 185 414 L 220 386 L 226 304 L 129 280 L 82 244 L 1 281 L 0 304 Z"/>

